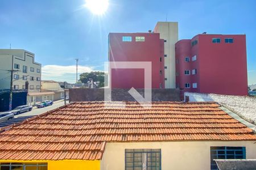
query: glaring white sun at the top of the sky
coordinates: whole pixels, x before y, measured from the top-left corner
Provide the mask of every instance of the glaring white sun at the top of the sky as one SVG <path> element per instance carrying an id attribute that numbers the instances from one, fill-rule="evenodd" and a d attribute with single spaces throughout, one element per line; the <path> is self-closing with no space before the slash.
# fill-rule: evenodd
<path id="1" fill-rule="evenodd" d="M 85 6 L 95 15 L 102 15 L 108 10 L 109 0 L 86 0 Z"/>

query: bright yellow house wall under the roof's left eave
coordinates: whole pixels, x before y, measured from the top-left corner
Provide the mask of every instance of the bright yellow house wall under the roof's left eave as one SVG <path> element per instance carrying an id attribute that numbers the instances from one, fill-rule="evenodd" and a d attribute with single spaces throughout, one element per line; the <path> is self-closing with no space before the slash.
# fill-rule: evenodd
<path id="1" fill-rule="evenodd" d="M 0 160 L 0 163 L 48 163 L 48 170 L 100 170 L 100 160 Z"/>

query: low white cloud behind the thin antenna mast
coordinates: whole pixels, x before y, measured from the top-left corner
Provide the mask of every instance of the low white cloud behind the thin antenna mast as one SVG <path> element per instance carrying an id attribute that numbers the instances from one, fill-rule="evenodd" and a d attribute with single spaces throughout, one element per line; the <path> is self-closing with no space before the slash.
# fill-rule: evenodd
<path id="1" fill-rule="evenodd" d="M 78 66 L 77 72 L 79 74 L 97 71 L 92 66 Z M 79 75 L 78 75 L 79 79 Z M 46 65 L 42 67 L 42 80 L 56 80 L 59 82 L 76 82 L 76 65 L 61 66 L 61 65 Z"/>

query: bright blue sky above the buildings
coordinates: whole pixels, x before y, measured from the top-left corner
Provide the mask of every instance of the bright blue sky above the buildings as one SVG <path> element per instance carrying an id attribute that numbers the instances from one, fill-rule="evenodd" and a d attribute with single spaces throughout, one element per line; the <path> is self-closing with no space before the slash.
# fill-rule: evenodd
<path id="1" fill-rule="evenodd" d="M 85 0 L 0 0 L 0 48 L 26 49 L 42 63 L 42 80 L 76 81 L 104 70 L 109 32 L 147 32 L 179 22 L 179 40 L 202 33 L 246 34 L 248 84 L 256 84 L 255 0 L 109 0 L 94 15 Z M 239 69 L 239 68 L 237 68 Z"/>

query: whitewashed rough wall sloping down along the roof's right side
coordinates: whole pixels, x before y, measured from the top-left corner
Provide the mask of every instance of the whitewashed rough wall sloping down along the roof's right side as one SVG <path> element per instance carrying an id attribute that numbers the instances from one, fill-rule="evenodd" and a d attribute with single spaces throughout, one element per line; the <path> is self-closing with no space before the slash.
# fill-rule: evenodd
<path id="1" fill-rule="evenodd" d="M 189 101 L 216 101 L 237 113 L 245 120 L 256 124 L 256 97 L 185 92 Z"/>

